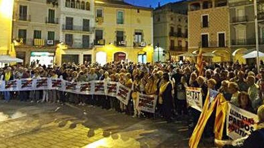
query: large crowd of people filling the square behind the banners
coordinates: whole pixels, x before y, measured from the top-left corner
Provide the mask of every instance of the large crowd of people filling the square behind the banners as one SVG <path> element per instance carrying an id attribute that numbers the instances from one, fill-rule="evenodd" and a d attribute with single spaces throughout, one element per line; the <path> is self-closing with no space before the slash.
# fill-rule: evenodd
<path id="1" fill-rule="evenodd" d="M 202 75 L 195 63 L 185 62 L 109 62 L 84 64 L 64 63 L 57 65 L 22 66 L 12 65 L 0 69 L 2 80 L 8 81 L 20 78 L 52 77 L 62 78 L 71 82 L 86 82 L 91 80 L 115 81 L 131 88 L 131 99 L 124 105 L 114 97 L 77 95 L 56 90 L 36 90 L 3 92 L 4 100 L 12 97 L 21 101 L 30 100 L 38 103 L 73 102 L 78 105 L 102 106 L 104 109 L 115 109 L 134 117 L 150 117 L 147 112 L 135 108 L 136 92 L 157 95 L 156 115 L 168 122 L 179 117 L 192 117 L 192 127 L 199 119 L 200 112 L 189 108 L 186 103 L 185 88 L 202 88 L 202 100 L 206 99 L 209 89 L 223 93 L 225 99 L 235 106 L 252 113 L 257 113 L 264 99 L 264 64 L 260 62 L 260 71 L 254 65 L 244 65 L 238 62 L 204 63 Z M 67 96 L 67 97 L 66 97 Z M 67 99 L 68 98 L 68 99 Z"/>

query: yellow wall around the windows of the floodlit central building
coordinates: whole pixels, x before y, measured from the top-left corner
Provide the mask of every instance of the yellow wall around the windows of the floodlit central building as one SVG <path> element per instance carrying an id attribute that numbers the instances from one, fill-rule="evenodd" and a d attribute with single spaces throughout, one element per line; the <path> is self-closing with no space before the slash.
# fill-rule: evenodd
<path id="1" fill-rule="evenodd" d="M 95 10 L 103 10 L 103 22 L 96 24 L 96 29 L 103 30 L 103 39 L 106 45 L 97 47 L 94 50 L 96 53 L 105 52 L 107 54 L 107 62 L 114 60 L 116 52 L 126 54 L 128 61 L 138 62 L 138 54 L 144 51 L 147 54 L 147 62 L 153 61 L 153 14 L 152 9 L 140 8 L 134 6 L 121 6 L 115 4 L 105 4 L 100 0 L 95 1 Z M 124 12 L 124 24 L 117 24 L 117 11 Z M 116 41 L 116 31 L 124 31 L 126 46 L 113 45 Z M 146 47 L 133 47 L 134 33 L 138 30 L 143 32 L 143 41 L 146 42 Z M 110 45 L 111 43 L 111 45 Z M 94 58 L 96 61 L 96 58 Z"/>

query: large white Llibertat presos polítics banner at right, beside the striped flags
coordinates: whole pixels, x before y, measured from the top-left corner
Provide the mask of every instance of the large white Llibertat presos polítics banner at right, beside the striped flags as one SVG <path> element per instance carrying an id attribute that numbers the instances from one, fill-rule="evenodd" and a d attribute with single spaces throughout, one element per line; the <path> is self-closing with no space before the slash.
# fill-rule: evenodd
<path id="1" fill-rule="evenodd" d="M 258 116 L 228 103 L 226 134 L 233 140 L 250 135 L 256 130 Z"/>

